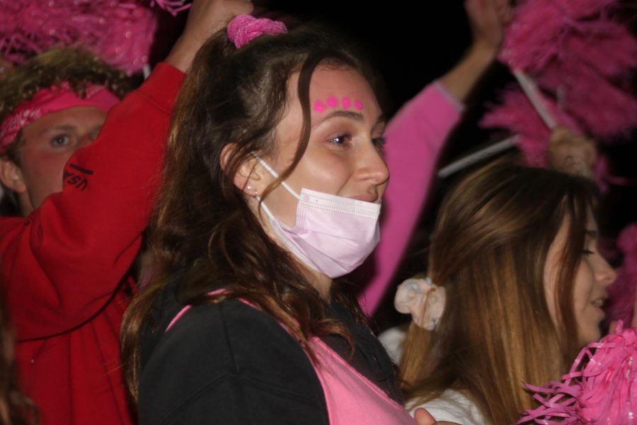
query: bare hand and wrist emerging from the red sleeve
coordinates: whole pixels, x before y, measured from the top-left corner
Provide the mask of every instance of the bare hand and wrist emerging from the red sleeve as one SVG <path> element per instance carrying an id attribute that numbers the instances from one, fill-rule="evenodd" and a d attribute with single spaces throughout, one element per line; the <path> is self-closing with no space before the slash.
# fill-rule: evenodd
<path id="1" fill-rule="evenodd" d="M 248 0 L 193 0 L 183 33 L 166 62 L 186 72 L 197 50 L 211 35 L 226 28 L 235 16 L 251 13 L 252 9 Z"/>

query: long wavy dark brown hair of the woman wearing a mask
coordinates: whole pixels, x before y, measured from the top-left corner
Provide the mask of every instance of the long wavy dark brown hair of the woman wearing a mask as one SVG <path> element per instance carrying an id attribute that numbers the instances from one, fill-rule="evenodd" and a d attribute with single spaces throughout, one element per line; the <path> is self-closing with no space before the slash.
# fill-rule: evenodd
<path id="1" fill-rule="evenodd" d="M 310 336 L 347 329 L 326 319 L 325 302 L 304 278 L 291 254 L 263 231 L 233 177 L 239 166 L 275 150 L 275 126 L 285 114 L 287 84 L 299 72 L 303 128 L 294 161 L 263 193 L 285 180 L 304 154 L 310 135 L 309 85 L 316 67 L 353 69 L 376 88 L 374 72 L 342 38 L 303 27 L 263 35 L 237 50 L 225 33 L 208 40 L 193 62 L 180 92 L 168 141 L 163 187 L 150 249 L 159 278 L 133 301 L 122 325 L 127 385 L 137 399 L 139 335 L 154 326 L 150 309 L 173 273 L 185 269 L 178 298 L 188 304 L 241 297 L 268 312 L 306 345 Z M 234 144 L 224 167 L 222 151 Z M 207 296 L 212 288 L 226 292 Z M 352 297 L 333 285 L 332 297 L 362 320 Z M 310 350 L 311 352 L 311 350 Z"/>

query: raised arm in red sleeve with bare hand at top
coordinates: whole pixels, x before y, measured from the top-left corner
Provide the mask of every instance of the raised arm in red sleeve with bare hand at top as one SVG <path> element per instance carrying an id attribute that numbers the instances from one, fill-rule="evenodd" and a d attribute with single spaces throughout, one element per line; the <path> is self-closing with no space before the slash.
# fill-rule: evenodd
<path id="1" fill-rule="evenodd" d="M 183 71 L 246 1 L 195 1 L 167 64 L 115 106 L 64 168 L 64 188 L 0 224 L 3 285 L 18 339 L 79 326 L 113 296 L 139 249 Z"/>

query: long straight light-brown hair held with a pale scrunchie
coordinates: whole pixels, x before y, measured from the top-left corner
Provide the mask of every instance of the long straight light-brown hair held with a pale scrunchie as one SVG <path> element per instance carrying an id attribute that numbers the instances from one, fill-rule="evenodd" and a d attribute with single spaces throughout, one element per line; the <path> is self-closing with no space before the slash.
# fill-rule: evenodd
<path id="1" fill-rule="evenodd" d="M 589 181 L 507 158 L 466 176 L 442 203 L 429 276 L 447 290 L 435 331 L 412 324 L 403 390 L 421 404 L 459 390 L 491 424 L 512 424 L 541 385 L 577 356 L 573 285 L 595 190 Z M 556 323 L 544 291 L 549 248 L 563 225 Z"/>

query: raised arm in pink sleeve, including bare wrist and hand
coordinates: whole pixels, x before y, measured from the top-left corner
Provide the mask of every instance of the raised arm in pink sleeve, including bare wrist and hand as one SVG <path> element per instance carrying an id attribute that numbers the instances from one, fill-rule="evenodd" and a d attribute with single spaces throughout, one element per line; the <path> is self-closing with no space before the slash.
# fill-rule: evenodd
<path id="1" fill-rule="evenodd" d="M 473 42 L 466 55 L 434 84 L 406 103 L 386 130 L 390 183 L 384 196 L 381 242 L 374 276 L 360 296 L 372 314 L 391 282 L 425 205 L 444 141 L 458 123 L 462 102 L 495 59 L 509 8 L 504 0 L 467 0 Z"/>

